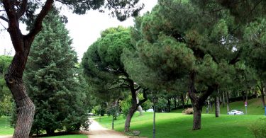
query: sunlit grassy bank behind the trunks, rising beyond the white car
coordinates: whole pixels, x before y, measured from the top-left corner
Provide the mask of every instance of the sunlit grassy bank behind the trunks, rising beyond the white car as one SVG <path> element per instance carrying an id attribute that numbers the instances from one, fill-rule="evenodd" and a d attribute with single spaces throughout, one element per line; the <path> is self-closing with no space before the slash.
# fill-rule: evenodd
<path id="1" fill-rule="evenodd" d="M 245 105 L 243 101 L 237 101 L 229 104 L 230 110 L 238 109 L 243 110 L 245 113 Z M 183 109 L 179 110 L 172 110 L 172 113 L 182 113 Z M 227 108 L 226 105 L 223 107 L 223 105 L 220 105 L 220 112 L 221 114 L 226 115 Z M 202 108 L 202 113 L 206 113 L 206 106 Z M 215 113 L 215 106 L 213 104 L 212 106 L 212 112 L 209 112 L 210 114 Z M 253 98 L 248 100 L 248 115 L 265 115 L 265 108 L 262 107 L 262 101 L 260 98 Z"/>

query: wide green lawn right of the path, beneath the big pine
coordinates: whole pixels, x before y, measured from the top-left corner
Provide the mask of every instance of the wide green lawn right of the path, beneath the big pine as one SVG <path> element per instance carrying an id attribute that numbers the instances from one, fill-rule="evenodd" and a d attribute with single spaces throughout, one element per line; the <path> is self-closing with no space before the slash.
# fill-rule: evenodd
<path id="1" fill-rule="evenodd" d="M 214 117 L 203 114 L 201 130 L 192 130 L 193 115 L 181 113 L 156 113 L 156 137 L 254 137 L 248 129 L 250 125 L 264 115 L 221 115 Z M 111 129 L 111 117 L 96 119 L 101 125 Z M 115 130 L 123 132 L 125 120 L 118 117 L 114 122 Z M 131 121 L 131 130 L 140 130 L 142 137 L 153 137 L 153 113 L 143 116 L 135 114 Z"/>

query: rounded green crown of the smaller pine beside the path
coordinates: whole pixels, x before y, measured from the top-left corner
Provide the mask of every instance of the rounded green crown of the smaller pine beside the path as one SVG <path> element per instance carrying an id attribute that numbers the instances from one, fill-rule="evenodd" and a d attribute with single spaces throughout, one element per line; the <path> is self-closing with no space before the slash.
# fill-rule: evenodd
<path id="1" fill-rule="evenodd" d="M 133 47 L 128 28 L 109 28 L 101 33 L 101 38 L 89 47 L 82 58 L 84 74 L 92 91 L 104 101 L 123 96 L 121 92 L 127 88 L 125 78 L 128 74 L 121 62 L 125 47 Z"/>

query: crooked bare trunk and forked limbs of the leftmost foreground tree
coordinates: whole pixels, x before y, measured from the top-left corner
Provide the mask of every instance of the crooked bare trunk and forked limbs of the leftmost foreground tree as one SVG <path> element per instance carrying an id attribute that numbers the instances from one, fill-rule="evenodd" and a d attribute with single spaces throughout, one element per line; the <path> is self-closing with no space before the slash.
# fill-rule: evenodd
<path id="1" fill-rule="evenodd" d="M 22 1 L 18 4 L 18 10 L 15 10 L 13 1 L 1 1 L 6 15 L 9 18 L 9 35 L 15 49 L 15 55 L 9 67 L 8 73 L 5 75 L 6 85 L 9 87 L 17 108 L 17 122 L 14 138 L 26 138 L 31 132 L 33 117 L 35 114 L 35 106 L 31 98 L 28 97 L 26 88 L 23 84 L 23 72 L 26 67 L 28 54 L 31 49 L 31 44 L 40 30 L 42 29 L 43 18 L 52 8 L 53 0 L 47 0 L 33 23 L 33 27 L 28 35 L 22 35 L 19 28 L 19 21 L 26 12 L 27 2 Z"/>

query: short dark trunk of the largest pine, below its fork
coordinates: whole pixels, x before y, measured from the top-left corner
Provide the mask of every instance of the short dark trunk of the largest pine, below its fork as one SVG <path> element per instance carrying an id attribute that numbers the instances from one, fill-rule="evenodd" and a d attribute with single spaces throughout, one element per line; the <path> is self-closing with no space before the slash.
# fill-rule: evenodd
<path id="1" fill-rule="evenodd" d="M 202 106 L 194 105 L 193 108 L 193 130 L 201 129 L 201 110 Z"/>

